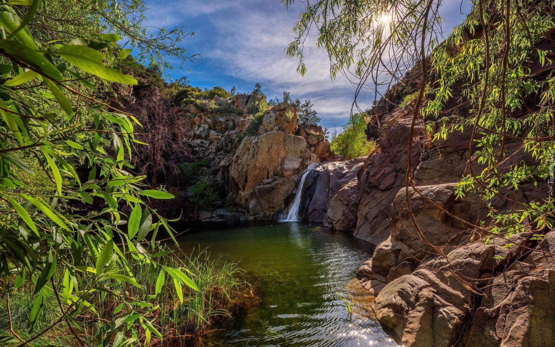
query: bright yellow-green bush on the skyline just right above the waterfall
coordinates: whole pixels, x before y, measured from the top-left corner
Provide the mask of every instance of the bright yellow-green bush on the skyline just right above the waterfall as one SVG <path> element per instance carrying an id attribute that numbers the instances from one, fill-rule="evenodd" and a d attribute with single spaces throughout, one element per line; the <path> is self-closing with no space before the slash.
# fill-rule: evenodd
<path id="1" fill-rule="evenodd" d="M 375 143 L 366 139 L 366 113 L 355 113 L 341 126 L 341 134 L 331 136 L 330 148 L 345 160 L 366 157 L 374 151 Z"/>

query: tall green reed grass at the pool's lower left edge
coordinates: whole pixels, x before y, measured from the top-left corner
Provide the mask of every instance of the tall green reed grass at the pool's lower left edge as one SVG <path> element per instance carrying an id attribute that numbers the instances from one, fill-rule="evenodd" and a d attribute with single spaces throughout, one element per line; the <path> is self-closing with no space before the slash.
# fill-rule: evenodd
<path id="1" fill-rule="evenodd" d="M 80 339 L 87 345 L 102 344 L 102 336 L 109 326 L 121 314 L 114 315 L 114 310 L 125 298 L 123 310 L 127 313 L 143 313 L 150 324 L 155 326 L 163 335 L 162 341 L 153 336 L 148 345 L 186 346 L 193 344 L 203 335 L 215 321 L 230 318 L 230 310 L 235 299 L 249 293 L 248 283 L 243 270 L 237 264 L 222 262 L 210 257 L 206 250 L 200 250 L 190 255 L 173 255 L 166 257 L 164 263 L 173 268 L 184 269 L 195 281 L 200 289 L 195 291 L 183 286 L 183 303 L 177 295 L 171 279 L 166 279 L 162 291 L 157 296 L 150 296 L 155 292 L 158 270 L 152 266 L 140 266 L 137 263 L 130 269 L 135 280 L 144 287 L 143 290 L 125 282 L 113 283 L 110 290 L 95 291 L 90 303 L 95 303 L 94 309 L 86 316 L 80 316 L 76 330 Z M 56 283 L 61 283 L 62 273 L 55 275 Z M 57 285 L 58 287 L 58 285 Z M 60 290 L 60 288 L 58 288 Z M 27 320 L 29 309 L 33 303 L 32 286 L 24 286 L 10 296 L 13 329 L 22 338 L 31 337 L 27 334 Z M 252 293 L 252 291 L 250 291 Z M 140 301 L 147 301 L 144 304 Z M 123 311 L 122 310 L 122 311 Z M 60 308 L 54 295 L 49 296 L 38 328 L 51 324 L 60 316 Z M 139 325 L 139 330 L 140 330 Z M 150 334 L 148 328 L 138 331 L 139 336 Z M 0 335 L 10 335 L 6 299 L 0 301 Z M 113 336 L 112 336 L 113 338 Z M 146 341 L 142 341 L 145 344 Z M 78 341 L 70 334 L 67 326 L 58 324 L 49 335 L 44 335 L 37 341 L 38 345 L 78 346 Z"/>

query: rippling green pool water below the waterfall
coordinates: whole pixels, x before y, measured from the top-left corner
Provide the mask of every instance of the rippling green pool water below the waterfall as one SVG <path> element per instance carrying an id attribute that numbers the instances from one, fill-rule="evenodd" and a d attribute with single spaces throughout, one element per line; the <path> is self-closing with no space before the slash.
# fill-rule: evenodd
<path id="1" fill-rule="evenodd" d="M 210 333 L 204 345 L 397 346 L 375 323 L 372 298 L 355 278 L 371 257 L 370 244 L 298 222 L 200 229 L 179 239 L 181 249 L 208 248 L 215 257 L 238 261 L 262 300 Z M 352 316 L 336 291 L 350 299 Z"/>

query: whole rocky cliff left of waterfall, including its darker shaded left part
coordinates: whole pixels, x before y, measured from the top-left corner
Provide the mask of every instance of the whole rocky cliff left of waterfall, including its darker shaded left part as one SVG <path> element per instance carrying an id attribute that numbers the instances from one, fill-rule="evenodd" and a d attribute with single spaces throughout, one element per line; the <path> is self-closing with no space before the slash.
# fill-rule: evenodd
<path id="1" fill-rule="evenodd" d="M 215 107 L 243 114 L 185 107 L 190 130 L 183 143 L 195 157 L 210 160 L 206 177 L 216 178 L 239 213 L 219 209 L 201 212 L 201 219 L 276 220 L 294 198 L 305 169 L 335 160 L 321 127 L 297 124 L 294 104 L 274 105 L 253 116 L 246 114 L 257 102 L 253 95 L 213 101 Z"/>

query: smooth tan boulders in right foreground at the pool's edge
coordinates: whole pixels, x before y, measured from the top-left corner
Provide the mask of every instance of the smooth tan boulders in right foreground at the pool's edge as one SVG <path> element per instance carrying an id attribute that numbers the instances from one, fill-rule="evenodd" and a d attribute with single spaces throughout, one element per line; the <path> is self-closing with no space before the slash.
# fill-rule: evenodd
<path id="1" fill-rule="evenodd" d="M 470 223 L 476 217 L 480 208 L 477 200 L 456 200 L 453 184 L 417 188 L 422 195 L 412 189 L 410 194 L 418 228 L 403 204 L 402 189 L 392 205 L 390 237 L 378 245 L 372 259 L 357 273 L 365 288 L 377 295 L 377 319 L 395 331 L 406 346 L 450 347 L 465 336 L 474 341 L 469 346 L 526 345 L 503 344 L 503 339 L 513 341 L 515 336 L 524 339 L 526 334 L 514 329 L 528 329 L 527 334 L 536 336 L 527 338 L 527 343 L 539 341 L 537 335 L 544 336 L 541 331 L 555 324 L 555 301 L 539 301 L 530 295 L 550 295 L 547 288 L 549 283 L 553 285 L 549 277 L 553 271 L 548 269 L 553 268 L 553 258 L 533 253 L 522 262 L 514 262 L 533 247 L 533 232 L 486 245 L 476 231 L 461 223 Z M 545 188 L 545 184 L 523 187 L 519 198 L 537 197 Z M 514 246 L 504 248 L 509 243 Z M 538 249 L 549 247 L 555 247 L 553 231 Z M 508 270 L 502 269 L 508 264 L 512 264 Z M 469 283 L 485 288 L 486 296 L 473 292 Z M 546 291 L 541 294 L 540 288 Z M 470 308 L 477 308 L 473 322 Z M 545 319 L 539 325 L 525 326 L 523 318 L 518 318 L 528 315 L 532 319 L 538 313 Z M 474 325 L 470 335 L 467 323 Z"/>

